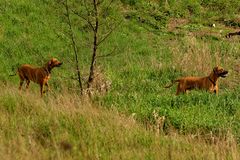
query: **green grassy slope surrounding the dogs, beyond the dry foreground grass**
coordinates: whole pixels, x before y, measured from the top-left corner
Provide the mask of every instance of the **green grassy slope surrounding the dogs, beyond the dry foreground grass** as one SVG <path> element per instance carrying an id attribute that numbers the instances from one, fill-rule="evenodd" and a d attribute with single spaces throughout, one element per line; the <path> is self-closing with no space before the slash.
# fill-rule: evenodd
<path id="1" fill-rule="evenodd" d="M 110 110 L 117 108 L 128 116 L 134 114 L 138 122 L 150 126 L 157 123 L 152 116 L 157 112 L 160 117 L 165 117 L 165 134 L 174 129 L 181 134 L 213 135 L 224 139 L 231 133 L 239 142 L 239 37 L 225 38 L 228 32 L 239 30 L 238 0 L 121 0 L 114 2 L 114 7 L 117 13 L 112 14 L 122 23 L 101 45 L 99 54 L 113 50 L 115 53 L 97 61 L 97 72 L 110 79 L 112 85 L 106 95 L 95 97 L 95 105 L 100 104 Z M 1 83 L 17 88 L 18 78 L 8 75 L 15 72 L 19 64 L 41 66 L 49 58 L 56 57 L 64 62 L 62 68 L 53 71 L 50 80 L 56 95 L 50 93 L 49 97 L 40 100 L 40 106 L 47 108 L 48 99 L 51 96 L 58 99 L 61 92 L 77 94 L 79 90 L 77 81 L 73 80 L 74 58 L 64 7 L 57 0 L 4 0 L 0 2 L 0 12 Z M 91 34 L 74 14 L 72 20 L 85 80 L 91 59 Z M 176 97 L 175 87 L 164 89 L 177 77 L 205 76 L 216 65 L 229 70 L 229 76 L 220 79 L 218 96 L 193 91 Z M 30 87 L 37 95 L 38 86 L 31 84 Z M 3 96 L 2 106 L 13 103 L 13 108 L 17 105 L 22 108 L 19 102 L 24 97 L 11 93 Z M 77 97 L 74 98 L 77 101 Z M 30 103 L 25 98 L 22 101 Z M 35 103 L 39 102 L 34 101 L 32 108 L 37 109 Z M 10 107 L 10 110 L 13 109 Z M 57 123 L 60 119 L 56 120 Z M 14 124 L 18 125 L 17 122 Z M 71 142 L 76 143 L 75 140 Z"/>

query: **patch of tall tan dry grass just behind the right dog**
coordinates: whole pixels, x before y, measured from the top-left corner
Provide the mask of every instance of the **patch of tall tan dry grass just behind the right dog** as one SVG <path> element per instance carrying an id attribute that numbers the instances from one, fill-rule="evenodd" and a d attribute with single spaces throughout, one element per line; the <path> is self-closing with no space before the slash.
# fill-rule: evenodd
<path id="1" fill-rule="evenodd" d="M 219 52 L 212 53 L 207 43 L 198 42 L 193 36 L 184 38 L 184 46 L 181 43 L 172 48 L 173 64 L 176 68 L 186 72 L 208 74 L 209 69 L 221 63 Z"/>

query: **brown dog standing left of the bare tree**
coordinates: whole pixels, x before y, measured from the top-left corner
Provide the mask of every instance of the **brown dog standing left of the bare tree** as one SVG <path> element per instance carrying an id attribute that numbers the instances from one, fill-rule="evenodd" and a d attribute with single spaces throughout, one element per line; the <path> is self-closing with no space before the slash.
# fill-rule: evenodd
<path id="1" fill-rule="evenodd" d="M 48 80 L 50 79 L 51 70 L 54 67 L 59 67 L 62 62 L 59 62 L 56 58 L 52 58 L 43 67 L 33 67 L 29 64 L 23 64 L 18 68 L 18 75 L 20 78 L 19 90 L 21 91 L 24 80 L 26 80 L 26 89 L 28 89 L 30 81 L 38 83 L 40 85 L 40 93 L 43 95 L 43 86 L 47 86 L 49 90 Z"/>

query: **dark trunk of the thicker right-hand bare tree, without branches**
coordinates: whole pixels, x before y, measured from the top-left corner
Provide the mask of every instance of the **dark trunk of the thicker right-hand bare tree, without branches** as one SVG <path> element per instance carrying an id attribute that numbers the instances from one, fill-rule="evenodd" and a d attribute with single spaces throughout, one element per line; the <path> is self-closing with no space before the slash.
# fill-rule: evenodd
<path id="1" fill-rule="evenodd" d="M 90 66 L 90 73 L 88 78 L 88 88 L 91 87 L 91 83 L 94 79 L 94 70 L 95 70 L 95 62 L 96 62 L 96 56 L 97 56 L 97 47 L 98 47 L 98 27 L 99 27 L 99 20 L 98 20 L 98 8 L 97 8 L 97 0 L 93 0 L 94 5 L 94 12 L 95 12 L 95 26 L 94 26 L 94 39 L 93 39 L 93 53 L 92 53 L 92 61 Z"/>

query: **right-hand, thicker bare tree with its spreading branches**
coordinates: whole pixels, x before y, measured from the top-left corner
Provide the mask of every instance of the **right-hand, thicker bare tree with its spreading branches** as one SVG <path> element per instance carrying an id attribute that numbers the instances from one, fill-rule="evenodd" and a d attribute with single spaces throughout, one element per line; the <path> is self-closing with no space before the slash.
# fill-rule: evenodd
<path id="1" fill-rule="evenodd" d="M 93 41 L 92 41 L 92 56 L 91 56 L 91 64 L 89 68 L 89 77 L 87 81 L 87 88 L 91 87 L 91 83 L 94 79 L 94 71 L 95 64 L 97 58 L 110 56 L 111 54 L 106 55 L 98 55 L 99 46 L 111 35 L 111 33 L 119 26 L 121 21 L 117 21 L 116 19 L 111 23 L 110 28 L 104 35 L 100 35 L 100 28 L 104 28 L 107 26 L 105 22 L 100 22 L 100 19 L 106 19 L 109 9 L 111 8 L 114 0 L 82 0 L 82 5 L 84 6 L 84 11 L 76 11 L 72 10 L 74 14 L 84 20 L 93 33 Z M 104 16 L 104 17 L 103 17 Z M 114 51 L 113 51 L 114 52 Z"/>

